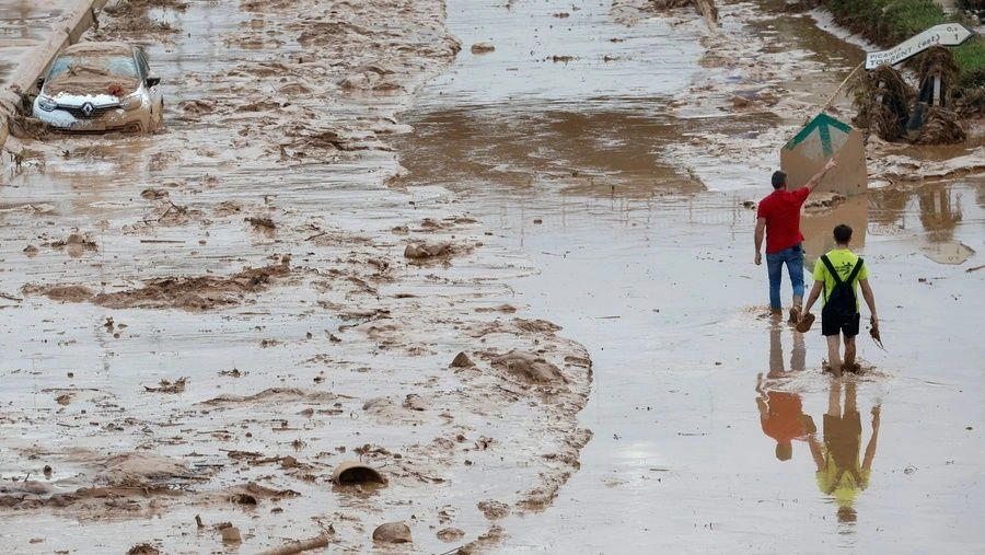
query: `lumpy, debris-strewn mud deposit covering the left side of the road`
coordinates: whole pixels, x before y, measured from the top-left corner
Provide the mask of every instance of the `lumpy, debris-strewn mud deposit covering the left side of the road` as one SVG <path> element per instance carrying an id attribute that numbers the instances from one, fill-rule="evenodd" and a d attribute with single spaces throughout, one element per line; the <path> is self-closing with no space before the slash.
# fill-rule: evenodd
<path id="1" fill-rule="evenodd" d="M 107 4 L 86 38 L 147 45 L 166 129 L 23 137 L 3 186 L 5 551 L 438 553 L 552 502 L 591 361 L 450 192 L 386 185 L 443 20 Z"/>

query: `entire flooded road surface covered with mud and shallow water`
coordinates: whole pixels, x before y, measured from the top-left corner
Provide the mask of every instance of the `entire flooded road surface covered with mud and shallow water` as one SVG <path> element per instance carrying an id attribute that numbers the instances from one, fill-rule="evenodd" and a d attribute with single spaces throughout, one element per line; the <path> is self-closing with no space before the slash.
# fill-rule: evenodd
<path id="1" fill-rule="evenodd" d="M 857 378 L 752 262 L 745 203 L 859 48 L 752 3 L 159 3 L 97 36 L 148 45 L 167 130 L 27 141 L 2 187 L 4 544 L 985 545 L 985 180 L 804 217 L 871 265 Z"/>

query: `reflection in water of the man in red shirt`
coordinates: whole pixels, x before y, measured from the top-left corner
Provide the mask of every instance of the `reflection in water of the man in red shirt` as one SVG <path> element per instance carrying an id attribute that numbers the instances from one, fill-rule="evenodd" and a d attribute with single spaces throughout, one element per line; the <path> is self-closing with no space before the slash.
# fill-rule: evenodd
<path id="1" fill-rule="evenodd" d="M 780 340 L 783 326 L 781 316 L 774 319 L 769 331 L 769 373 L 770 380 L 787 375 L 784 368 L 784 345 Z M 803 334 L 793 334 L 793 351 L 790 355 L 790 370 L 803 370 L 807 348 L 803 344 Z M 772 383 L 772 382 L 769 382 Z M 814 423 L 809 415 L 803 414 L 803 404 L 800 395 L 776 389 L 764 389 L 763 374 L 756 375 L 756 406 L 760 408 L 760 425 L 763 433 L 776 440 L 776 458 L 780 461 L 789 461 L 793 456 L 793 440 L 806 441 L 809 433 L 815 431 Z"/>

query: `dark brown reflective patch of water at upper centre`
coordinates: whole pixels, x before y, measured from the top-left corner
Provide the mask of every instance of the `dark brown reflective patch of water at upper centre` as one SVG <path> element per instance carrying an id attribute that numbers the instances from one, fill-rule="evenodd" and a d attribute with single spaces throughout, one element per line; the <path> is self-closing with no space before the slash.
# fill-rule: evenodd
<path id="1" fill-rule="evenodd" d="M 418 117 L 412 120 L 414 155 L 401 161 L 418 183 L 455 190 L 476 182 L 520 188 L 537 183 L 634 198 L 702 190 L 700 183 L 661 160 L 661 144 L 680 131 L 673 118 L 652 114 L 648 103 L 626 101 L 622 109 L 605 111 L 511 103 Z"/>

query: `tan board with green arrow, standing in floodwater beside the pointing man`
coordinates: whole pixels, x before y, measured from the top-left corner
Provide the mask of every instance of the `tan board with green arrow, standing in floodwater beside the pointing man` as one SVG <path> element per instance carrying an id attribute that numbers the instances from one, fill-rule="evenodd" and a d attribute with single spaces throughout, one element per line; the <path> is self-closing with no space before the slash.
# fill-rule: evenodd
<path id="1" fill-rule="evenodd" d="M 811 119 L 780 149 L 780 169 L 787 173 L 790 189 L 803 186 L 830 158 L 838 166 L 824 176 L 818 190 L 846 197 L 868 190 L 861 134 L 827 114 Z"/>

